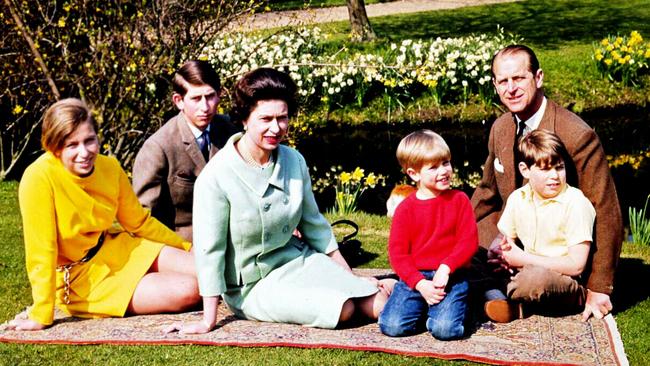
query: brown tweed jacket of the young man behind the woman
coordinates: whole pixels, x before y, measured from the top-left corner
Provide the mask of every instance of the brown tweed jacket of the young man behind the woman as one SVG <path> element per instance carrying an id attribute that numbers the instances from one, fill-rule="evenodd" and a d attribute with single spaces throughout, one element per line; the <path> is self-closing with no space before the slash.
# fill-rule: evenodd
<path id="1" fill-rule="evenodd" d="M 155 218 L 192 241 L 194 182 L 206 162 L 187 123 L 181 112 L 144 142 L 133 164 L 133 190 Z M 210 157 L 237 131 L 228 116 L 215 116 Z"/>

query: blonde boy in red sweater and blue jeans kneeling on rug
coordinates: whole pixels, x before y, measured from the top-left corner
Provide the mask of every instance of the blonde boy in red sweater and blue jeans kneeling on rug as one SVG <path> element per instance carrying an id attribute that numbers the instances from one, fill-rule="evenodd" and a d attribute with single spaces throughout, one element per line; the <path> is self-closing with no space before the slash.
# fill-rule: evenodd
<path id="1" fill-rule="evenodd" d="M 450 159 L 445 140 L 430 130 L 409 134 L 397 148 L 397 160 L 418 188 L 397 206 L 390 229 L 388 256 L 400 281 L 379 316 L 388 336 L 425 327 L 440 340 L 465 333 L 464 268 L 478 249 L 478 233 L 469 198 L 451 189 Z"/>

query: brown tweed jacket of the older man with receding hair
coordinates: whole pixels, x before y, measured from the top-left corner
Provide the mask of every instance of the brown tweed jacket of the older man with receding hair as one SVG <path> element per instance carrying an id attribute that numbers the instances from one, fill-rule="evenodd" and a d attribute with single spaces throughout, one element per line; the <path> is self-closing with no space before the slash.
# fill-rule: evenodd
<path id="1" fill-rule="evenodd" d="M 614 272 L 623 242 L 623 221 L 614 180 L 596 132 L 580 117 L 548 100 L 539 127 L 555 132 L 572 161 L 565 162 L 567 182 L 578 187 L 596 209 L 591 261 L 584 275 L 587 288 L 605 294 L 613 290 Z M 488 141 L 483 178 L 472 195 L 481 246 L 496 237 L 496 224 L 505 202 L 516 188 L 514 140 L 516 124 L 512 113 L 498 118 Z M 589 265 L 590 264 L 590 265 Z"/>

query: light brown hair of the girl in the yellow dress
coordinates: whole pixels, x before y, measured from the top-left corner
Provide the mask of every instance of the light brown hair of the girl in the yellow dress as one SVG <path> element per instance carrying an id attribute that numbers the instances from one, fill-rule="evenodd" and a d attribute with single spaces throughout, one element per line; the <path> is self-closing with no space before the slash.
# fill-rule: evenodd
<path id="1" fill-rule="evenodd" d="M 52 104 L 43 117 L 41 145 L 43 149 L 57 153 L 63 149 L 65 140 L 81 124 L 90 123 L 97 131 L 90 108 L 77 98 L 62 99 Z"/>

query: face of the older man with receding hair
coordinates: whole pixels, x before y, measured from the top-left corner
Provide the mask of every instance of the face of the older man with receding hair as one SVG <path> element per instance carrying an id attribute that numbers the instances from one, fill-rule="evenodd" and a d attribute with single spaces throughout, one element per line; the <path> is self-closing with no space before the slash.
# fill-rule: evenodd
<path id="1" fill-rule="evenodd" d="M 497 57 L 493 72 L 492 83 L 501 103 L 523 121 L 535 114 L 541 105 L 542 69 L 533 75 L 528 56 L 515 52 Z"/>

